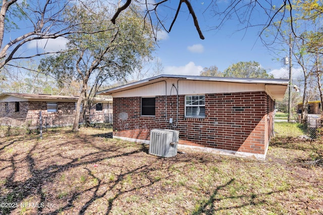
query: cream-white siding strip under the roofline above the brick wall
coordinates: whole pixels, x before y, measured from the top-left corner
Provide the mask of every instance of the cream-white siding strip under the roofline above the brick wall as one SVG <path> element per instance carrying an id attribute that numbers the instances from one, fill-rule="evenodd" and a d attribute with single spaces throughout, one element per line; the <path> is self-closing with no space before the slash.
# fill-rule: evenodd
<path id="1" fill-rule="evenodd" d="M 234 93 L 234 92 L 256 92 L 265 91 L 265 84 L 242 84 L 229 82 L 192 81 L 167 79 L 167 95 L 176 95 L 178 87 L 179 95 L 208 94 L 208 93 Z M 178 86 L 177 86 L 178 84 Z M 172 90 L 172 91 L 171 91 Z M 114 93 L 114 97 L 145 97 L 164 96 L 166 94 L 166 83 L 164 81 Z"/>

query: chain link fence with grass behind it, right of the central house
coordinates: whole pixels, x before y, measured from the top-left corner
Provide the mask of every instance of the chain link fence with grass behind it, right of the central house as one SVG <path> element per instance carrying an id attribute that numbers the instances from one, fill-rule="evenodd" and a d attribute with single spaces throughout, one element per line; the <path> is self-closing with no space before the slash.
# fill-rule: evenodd
<path id="1" fill-rule="evenodd" d="M 308 115 L 306 119 L 275 119 L 275 136 L 316 138 L 322 132 L 323 120 L 320 115 Z"/>

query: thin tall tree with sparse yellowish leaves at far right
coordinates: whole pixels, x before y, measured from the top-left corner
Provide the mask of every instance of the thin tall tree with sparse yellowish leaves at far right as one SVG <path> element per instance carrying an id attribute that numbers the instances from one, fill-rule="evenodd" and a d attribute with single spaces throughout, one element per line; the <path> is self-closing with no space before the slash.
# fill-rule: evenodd
<path id="1" fill-rule="evenodd" d="M 274 35 L 275 41 L 265 41 L 266 37 L 262 37 L 262 41 L 268 49 L 273 50 L 275 54 L 281 52 L 285 54 L 285 56 L 290 55 L 290 63 L 293 62 L 302 69 L 302 119 L 306 118 L 307 102 L 312 95 L 313 89 L 316 89 L 316 86 L 312 85 L 311 76 L 314 75 L 316 80 L 318 80 L 316 83 L 317 86 L 321 85 L 319 79 L 320 75 L 318 75 L 320 73 L 321 44 L 323 44 L 323 37 L 320 29 L 322 14 L 320 7 L 321 6 L 316 4 L 315 1 L 293 2 L 293 5 L 288 9 L 288 11 L 293 10 L 293 16 L 289 13 L 290 17 L 274 22 L 271 27 L 268 28 L 267 34 Z M 295 67 L 295 65 L 293 65 L 293 67 Z M 291 83 L 291 85 L 293 84 Z M 320 87 L 318 88 L 320 89 Z"/>

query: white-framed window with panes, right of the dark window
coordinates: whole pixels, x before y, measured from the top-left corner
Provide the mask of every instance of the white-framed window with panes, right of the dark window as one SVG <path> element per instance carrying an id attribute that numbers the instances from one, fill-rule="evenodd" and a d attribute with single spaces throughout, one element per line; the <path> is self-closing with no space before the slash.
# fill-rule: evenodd
<path id="1" fill-rule="evenodd" d="M 185 96 L 185 116 L 205 117 L 205 95 Z"/>

